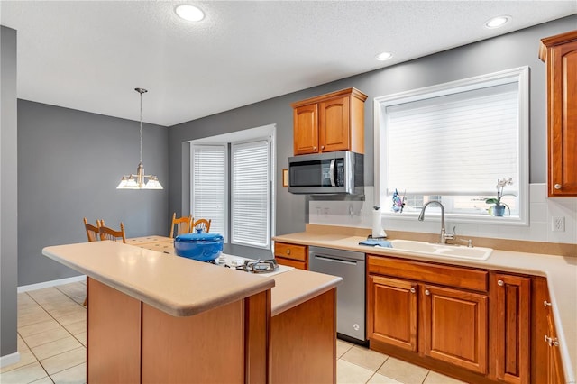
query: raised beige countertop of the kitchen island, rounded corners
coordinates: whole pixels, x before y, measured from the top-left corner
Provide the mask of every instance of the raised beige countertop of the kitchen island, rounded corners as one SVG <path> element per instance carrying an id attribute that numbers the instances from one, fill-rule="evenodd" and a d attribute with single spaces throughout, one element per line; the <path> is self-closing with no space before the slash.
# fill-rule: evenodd
<path id="1" fill-rule="evenodd" d="M 274 287 L 273 279 L 120 242 L 46 247 L 42 254 L 169 315 L 196 315 Z"/>

